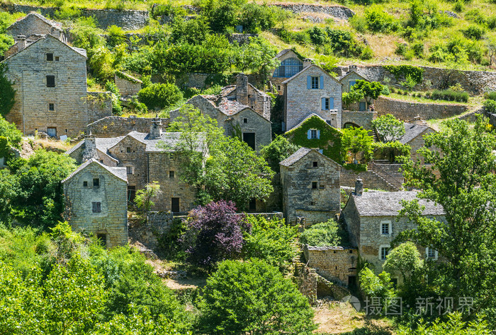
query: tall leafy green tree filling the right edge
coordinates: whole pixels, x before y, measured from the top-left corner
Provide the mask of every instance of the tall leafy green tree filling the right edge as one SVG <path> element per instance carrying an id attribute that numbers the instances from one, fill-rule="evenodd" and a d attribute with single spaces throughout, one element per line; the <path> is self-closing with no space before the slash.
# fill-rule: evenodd
<path id="1" fill-rule="evenodd" d="M 407 186 L 423 191 L 420 198 L 443 206 L 446 221 L 421 215 L 418 201 L 404 203 L 403 214 L 417 230 L 400 233 L 398 241 L 412 241 L 436 249 L 444 261 L 429 275 L 444 296 L 473 297 L 474 308 L 496 319 L 496 147 L 481 117 L 470 127 L 465 121 L 446 121 L 445 131 L 425 136 L 419 153 L 431 165 L 404 165 Z M 484 274 L 481 276 L 480 274 Z"/>

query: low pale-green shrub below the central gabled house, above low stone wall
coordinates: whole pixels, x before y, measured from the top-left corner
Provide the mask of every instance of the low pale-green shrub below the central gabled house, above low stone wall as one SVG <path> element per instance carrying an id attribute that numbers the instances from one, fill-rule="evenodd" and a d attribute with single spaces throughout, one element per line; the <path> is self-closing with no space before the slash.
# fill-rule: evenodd
<path id="1" fill-rule="evenodd" d="M 346 241 L 346 232 L 332 219 L 311 225 L 300 235 L 301 243 L 314 247 L 334 247 L 343 245 L 344 241 Z"/>

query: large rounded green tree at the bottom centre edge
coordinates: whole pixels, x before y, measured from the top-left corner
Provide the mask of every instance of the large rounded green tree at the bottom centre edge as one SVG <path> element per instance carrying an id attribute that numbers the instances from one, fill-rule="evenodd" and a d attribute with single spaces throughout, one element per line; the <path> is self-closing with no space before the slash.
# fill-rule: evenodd
<path id="1" fill-rule="evenodd" d="M 312 334 L 308 300 L 264 261 L 222 261 L 203 290 L 206 334 Z"/>

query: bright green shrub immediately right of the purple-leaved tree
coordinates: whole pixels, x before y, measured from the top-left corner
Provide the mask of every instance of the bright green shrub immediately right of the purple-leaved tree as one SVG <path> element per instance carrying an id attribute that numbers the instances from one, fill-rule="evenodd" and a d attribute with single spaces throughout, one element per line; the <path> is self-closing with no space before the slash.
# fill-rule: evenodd
<path id="1" fill-rule="evenodd" d="M 288 269 L 298 250 L 298 228 L 287 225 L 284 219 L 266 220 L 263 216 L 247 216 L 245 221 L 252 232 L 244 234 L 244 258 L 263 259 L 281 271 Z"/>

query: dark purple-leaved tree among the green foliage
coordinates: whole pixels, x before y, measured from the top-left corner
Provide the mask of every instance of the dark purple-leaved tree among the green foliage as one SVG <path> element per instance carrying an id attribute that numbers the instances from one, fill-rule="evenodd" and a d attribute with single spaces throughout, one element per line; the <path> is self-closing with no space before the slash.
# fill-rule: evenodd
<path id="1" fill-rule="evenodd" d="M 243 247 L 243 232 L 251 230 L 243 217 L 233 215 L 232 201 L 220 200 L 198 206 L 188 214 L 188 230 L 183 238 L 188 261 L 210 267 L 218 261 L 232 259 Z"/>

